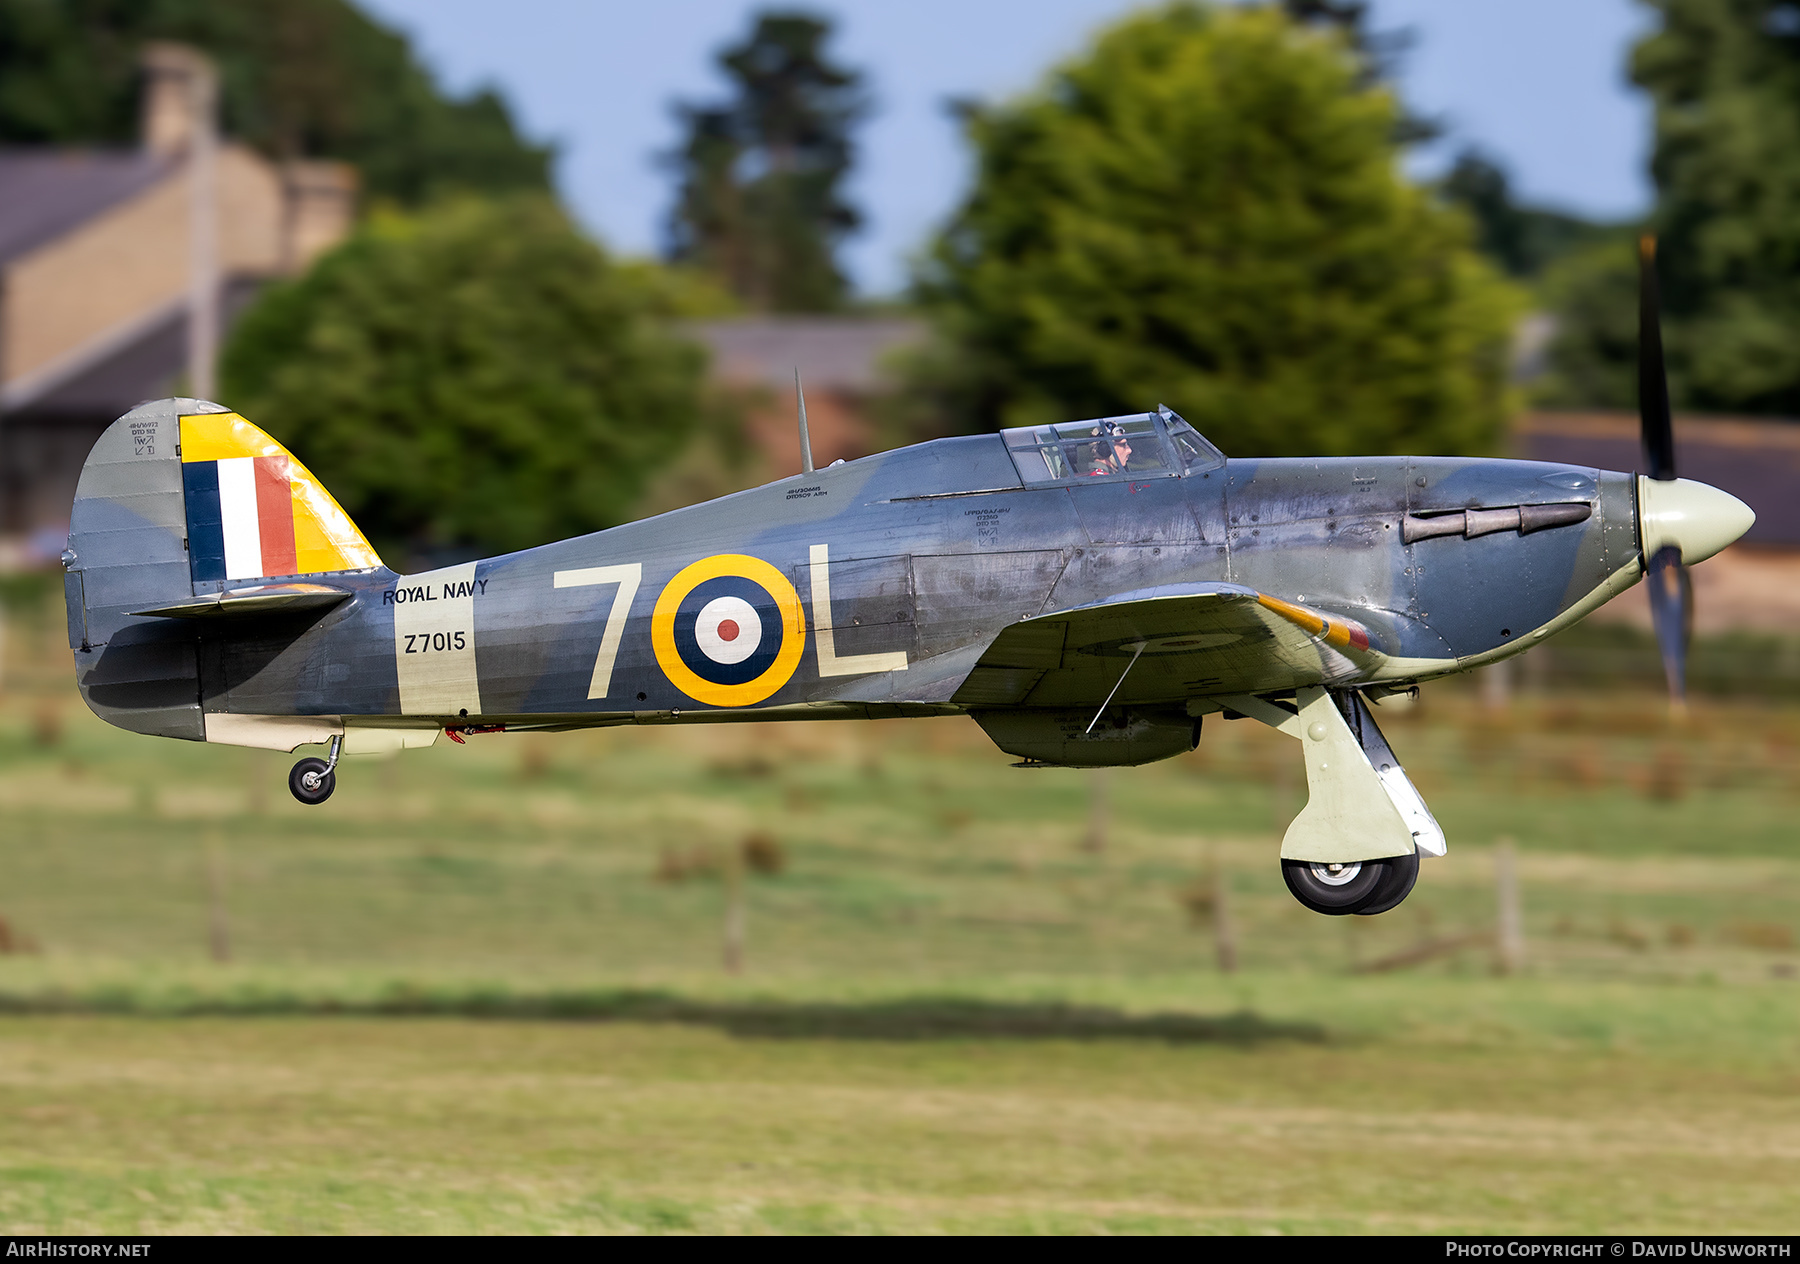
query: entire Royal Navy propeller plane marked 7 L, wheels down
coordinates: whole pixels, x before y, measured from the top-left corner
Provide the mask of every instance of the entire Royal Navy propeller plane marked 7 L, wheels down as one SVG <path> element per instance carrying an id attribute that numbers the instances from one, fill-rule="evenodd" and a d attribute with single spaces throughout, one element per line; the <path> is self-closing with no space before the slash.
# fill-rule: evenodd
<path id="1" fill-rule="evenodd" d="M 1654 340 L 1645 299 L 1647 351 Z M 1210 715 L 1300 740 L 1282 841 L 1319 913 L 1381 913 L 1444 834 L 1372 702 L 1530 648 L 1751 524 L 1674 479 L 1469 457 L 1228 459 L 1175 412 L 938 439 L 522 553 L 396 574 L 286 448 L 144 403 L 81 474 L 81 693 L 126 729 L 340 754 L 497 729 L 968 715 L 1026 765 L 1193 749 Z M 1651 382 L 1654 378 L 1654 382 Z"/>

